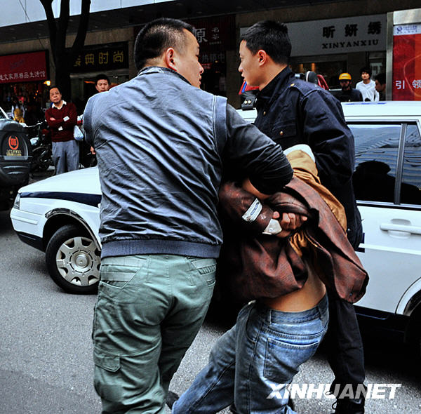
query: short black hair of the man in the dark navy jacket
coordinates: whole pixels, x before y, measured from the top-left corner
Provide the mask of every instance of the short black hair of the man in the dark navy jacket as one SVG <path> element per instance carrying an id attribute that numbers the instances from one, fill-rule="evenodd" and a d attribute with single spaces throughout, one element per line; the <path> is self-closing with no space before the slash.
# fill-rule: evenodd
<path id="1" fill-rule="evenodd" d="M 263 20 L 249 27 L 240 40 L 246 41 L 246 46 L 253 55 L 262 49 L 275 63 L 288 65 L 291 41 L 286 25 L 272 20 Z"/>

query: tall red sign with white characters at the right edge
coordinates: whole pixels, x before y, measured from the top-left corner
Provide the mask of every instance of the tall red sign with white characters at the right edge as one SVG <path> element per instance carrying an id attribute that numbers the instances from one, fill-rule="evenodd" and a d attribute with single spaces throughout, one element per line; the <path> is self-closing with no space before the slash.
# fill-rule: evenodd
<path id="1" fill-rule="evenodd" d="M 421 24 L 393 28 L 393 100 L 421 100 Z"/>

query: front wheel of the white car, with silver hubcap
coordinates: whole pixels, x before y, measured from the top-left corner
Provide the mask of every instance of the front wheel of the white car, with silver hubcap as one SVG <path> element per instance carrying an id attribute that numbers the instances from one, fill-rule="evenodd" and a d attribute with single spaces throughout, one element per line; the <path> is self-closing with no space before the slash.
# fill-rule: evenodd
<path id="1" fill-rule="evenodd" d="M 92 236 L 76 225 L 53 234 L 46 248 L 48 272 L 68 293 L 95 293 L 100 280 L 100 251 Z"/>

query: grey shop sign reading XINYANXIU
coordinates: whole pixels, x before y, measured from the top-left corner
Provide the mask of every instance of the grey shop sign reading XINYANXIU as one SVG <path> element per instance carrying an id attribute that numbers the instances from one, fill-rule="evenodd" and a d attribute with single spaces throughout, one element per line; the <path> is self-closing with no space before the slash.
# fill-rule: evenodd
<path id="1" fill-rule="evenodd" d="M 387 15 L 286 23 L 291 56 L 386 50 Z M 246 28 L 241 28 L 241 33 Z"/>

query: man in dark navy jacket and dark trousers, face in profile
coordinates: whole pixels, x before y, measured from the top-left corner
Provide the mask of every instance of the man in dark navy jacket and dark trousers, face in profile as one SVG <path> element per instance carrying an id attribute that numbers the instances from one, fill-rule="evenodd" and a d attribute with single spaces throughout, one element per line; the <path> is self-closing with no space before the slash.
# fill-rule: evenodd
<path id="1" fill-rule="evenodd" d="M 283 149 L 297 144 L 312 148 L 321 184 L 345 207 L 347 236 L 356 248 L 361 218 L 352 187 L 354 137 L 340 102 L 328 91 L 296 79 L 288 68 L 288 29 L 278 22 L 258 22 L 241 37 L 239 71 L 248 85 L 259 86 L 255 126 Z M 354 307 L 329 296 L 328 361 L 335 374 L 331 391 L 356 387 L 365 379 L 363 345 Z M 338 385 L 338 387 L 335 387 Z M 336 414 L 362 414 L 363 399 L 338 399 Z"/>

